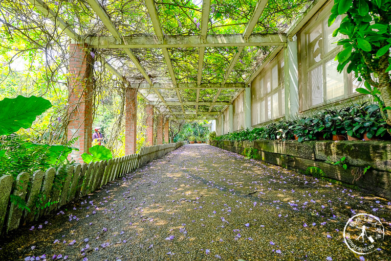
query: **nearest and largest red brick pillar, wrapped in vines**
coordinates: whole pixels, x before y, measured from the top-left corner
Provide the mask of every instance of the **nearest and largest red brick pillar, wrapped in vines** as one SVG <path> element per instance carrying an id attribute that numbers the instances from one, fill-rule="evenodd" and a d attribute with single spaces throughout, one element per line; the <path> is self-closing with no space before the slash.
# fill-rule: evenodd
<path id="1" fill-rule="evenodd" d="M 73 146 L 79 151 L 73 151 L 70 158 L 83 163 L 80 156 L 88 152 L 92 141 L 92 64 L 93 57 L 85 50 L 87 45 L 71 44 L 69 46 L 69 89 L 68 89 L 68 141 L 79 137 Z"/>

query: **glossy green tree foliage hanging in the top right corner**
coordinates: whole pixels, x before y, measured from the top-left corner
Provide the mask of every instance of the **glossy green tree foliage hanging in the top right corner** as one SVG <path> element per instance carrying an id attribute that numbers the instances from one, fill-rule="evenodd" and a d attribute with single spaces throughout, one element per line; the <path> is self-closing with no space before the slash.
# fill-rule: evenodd
<path id="1" fill-rule="evenodd" d="M 366 89 L 357 91 L 373 95 L 391 124 L 391 0 L 334 0 L 328 25 L 345 14 L 333 32 L 333 37 L 345 35 L 338 41 L 343 50 L 336 56 L 337 69 L 341 72 L 346 68 L 359 81 L 365 81 Z"/>

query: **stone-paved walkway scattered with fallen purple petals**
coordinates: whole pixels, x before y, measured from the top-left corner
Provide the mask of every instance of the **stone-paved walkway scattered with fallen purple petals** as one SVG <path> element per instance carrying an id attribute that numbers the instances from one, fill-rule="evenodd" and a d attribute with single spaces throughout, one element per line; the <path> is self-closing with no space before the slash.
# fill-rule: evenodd
<path id="1" fill-rule="evenodd" d="M 1 238 L 0 260 L 391 260 L 390 204 L 189 144 Z M 385 242 L 372 254 L 343 241 L 355 213 L 383 218 Z"/>

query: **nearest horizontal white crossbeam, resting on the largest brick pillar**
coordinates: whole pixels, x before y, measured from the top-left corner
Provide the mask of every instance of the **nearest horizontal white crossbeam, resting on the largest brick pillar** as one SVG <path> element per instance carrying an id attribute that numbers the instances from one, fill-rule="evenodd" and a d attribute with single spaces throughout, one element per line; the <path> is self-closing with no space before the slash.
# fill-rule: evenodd
<path id="1" fill-rule="evenodd" d="M 85 41 L 91 48 L 179 48 L 179 47 L 239 47 L 239 46 L 280 46 L 286 44 L 286 34 L 254 33 L 248 41 L 243 34 L 211 34 L 205 42 L 199 35 L 164 35 L 159 41 L 156 35 L 122 36 L 122 44 L 117 44 L 113 36 L 86 36 Z"/>

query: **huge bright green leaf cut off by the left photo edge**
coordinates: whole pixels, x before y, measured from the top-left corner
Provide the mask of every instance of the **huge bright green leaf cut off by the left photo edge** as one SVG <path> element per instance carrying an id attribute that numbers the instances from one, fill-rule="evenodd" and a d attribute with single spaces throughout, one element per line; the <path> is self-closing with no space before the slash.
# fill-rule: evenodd
<path id="1" fill-rule="evenodd" d="M 0 135 L 31 127 L 37 116 L 52 107 L 50 101 L 36 96 L 4 98 L 0 101 Z"/>

